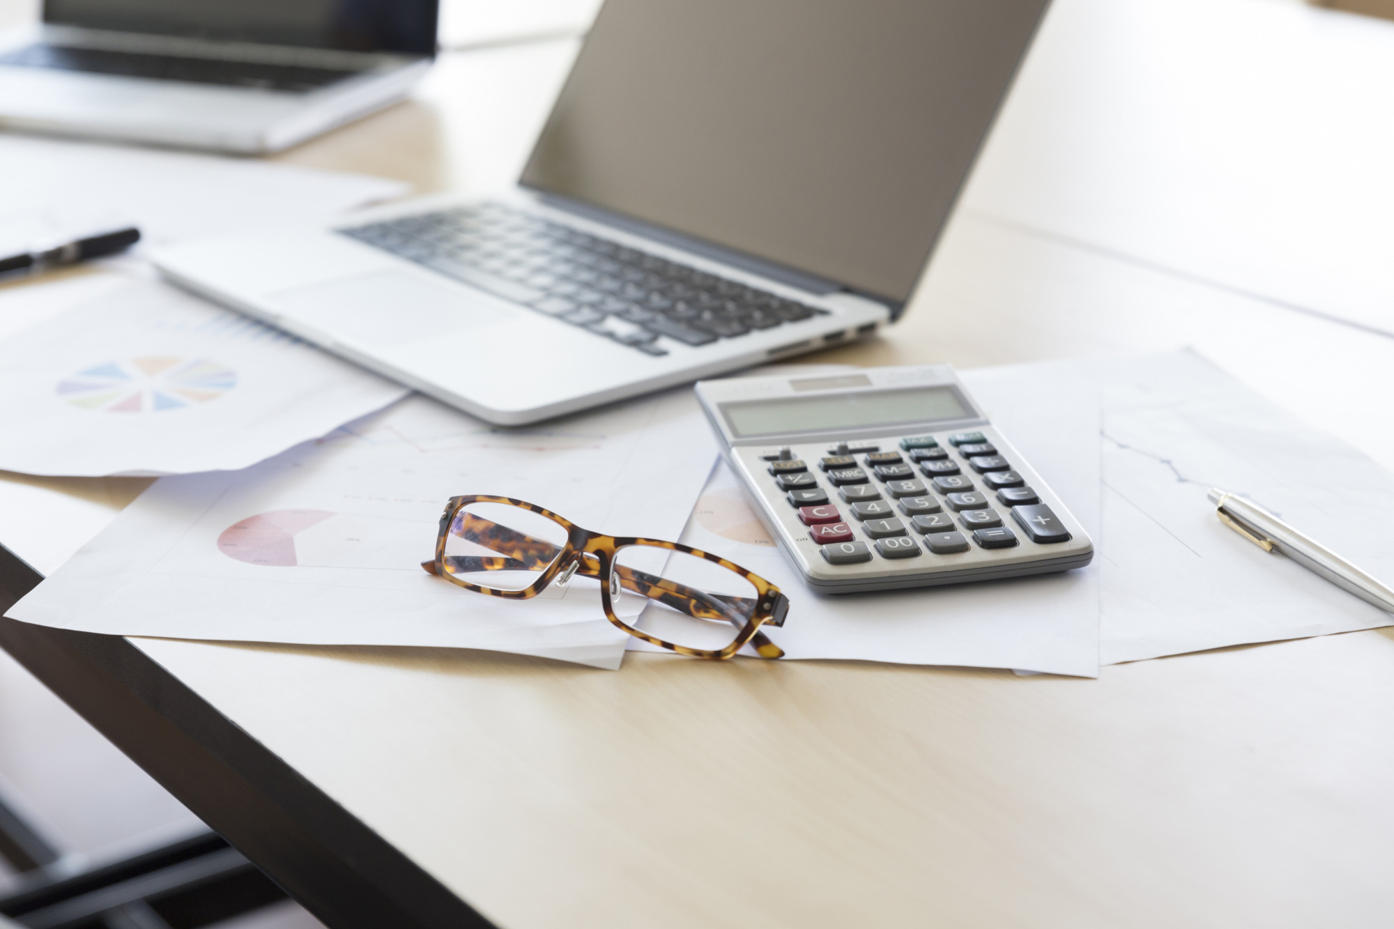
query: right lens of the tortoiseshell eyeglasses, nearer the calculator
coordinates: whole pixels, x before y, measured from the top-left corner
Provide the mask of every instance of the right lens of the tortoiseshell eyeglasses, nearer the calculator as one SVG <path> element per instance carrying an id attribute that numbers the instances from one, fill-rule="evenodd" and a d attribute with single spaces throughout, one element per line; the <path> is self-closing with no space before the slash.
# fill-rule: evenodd
<path id="1" fill-rule="evenodd" d="M 611 607 L 625 625 L 689 649 L 719 651 L 746 628 L 760 591 L 714 561 L 657 545 L 615 554 Z"/>

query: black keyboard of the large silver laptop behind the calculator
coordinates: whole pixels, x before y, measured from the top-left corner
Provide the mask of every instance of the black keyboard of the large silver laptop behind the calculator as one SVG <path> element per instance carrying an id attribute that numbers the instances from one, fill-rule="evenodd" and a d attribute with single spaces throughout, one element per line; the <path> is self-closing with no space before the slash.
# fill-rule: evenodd
<path id="1" fill-rule="evenodd" d="M 339 232 L 645 354 L 828 312 L 502 204 Z"/>

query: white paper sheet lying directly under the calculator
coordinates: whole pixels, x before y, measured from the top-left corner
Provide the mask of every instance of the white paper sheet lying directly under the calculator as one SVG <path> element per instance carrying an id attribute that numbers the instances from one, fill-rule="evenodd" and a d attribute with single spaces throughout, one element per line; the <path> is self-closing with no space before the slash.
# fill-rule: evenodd
<path id="1" fill-rule="evenodd" d="M 959 371 L 994 425 L 1096 538 L 1098 392 L 1071 363 Z M 815 594 L 775 548 L 722 463 L 683 541 L 756 572 L 790 600 L 783 628 L 767 629 L 788 658 L 1025 668 L 1097 677 L 1098 572 L 863 594 Z M 655 650 L 640 640 L 631 650 Z"/>

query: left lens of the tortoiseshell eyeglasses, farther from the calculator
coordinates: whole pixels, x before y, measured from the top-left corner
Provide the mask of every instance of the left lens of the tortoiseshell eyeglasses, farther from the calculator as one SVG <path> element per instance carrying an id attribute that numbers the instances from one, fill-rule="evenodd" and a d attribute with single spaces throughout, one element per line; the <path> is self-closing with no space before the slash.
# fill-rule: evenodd
<path id="1" fill-rule="evenodd" d="M 510 504 L 466 504 L 450 520 L 443 566 L 480 587 L 524 590 L 562 557 L 566 527 Z"/>

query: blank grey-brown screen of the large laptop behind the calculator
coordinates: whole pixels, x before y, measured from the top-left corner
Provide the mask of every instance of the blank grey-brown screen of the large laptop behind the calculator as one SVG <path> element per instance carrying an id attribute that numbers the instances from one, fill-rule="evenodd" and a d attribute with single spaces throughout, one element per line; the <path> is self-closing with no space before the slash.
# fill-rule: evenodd
<path id="1" fill-rule="evenodd" d="M 608 0 L 521 183 L 909 299 L 1048 0 Z"/>

